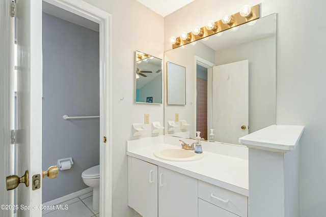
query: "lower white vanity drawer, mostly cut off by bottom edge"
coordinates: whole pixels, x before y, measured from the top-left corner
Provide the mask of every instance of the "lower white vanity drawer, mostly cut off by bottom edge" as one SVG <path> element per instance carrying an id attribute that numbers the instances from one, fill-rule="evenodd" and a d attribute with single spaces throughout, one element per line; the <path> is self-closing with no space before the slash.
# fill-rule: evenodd
<path id="1" fill-rule="evenodd" d="M 198 217 L 239 217 L 232 212 L 229 212 L 225 209 L 222 209 L 218 206 L 215 206 L 211 203 L 208 203 L 202 199 L 198 199 Z"/>

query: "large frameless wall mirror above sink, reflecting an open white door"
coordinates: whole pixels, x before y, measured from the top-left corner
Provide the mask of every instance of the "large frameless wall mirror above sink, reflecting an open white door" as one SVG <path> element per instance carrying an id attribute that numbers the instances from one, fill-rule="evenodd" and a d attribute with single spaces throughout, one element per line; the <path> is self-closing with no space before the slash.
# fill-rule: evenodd
<path id="1" fill-rule="evenodd" d="M 208 139 L 213 129 L 215 141 L 238 144 L 276 123 L 276 14 L 169 50 L 164 62 L 187 69 L 186 104 L 165 103 L 166 135 Z"/>

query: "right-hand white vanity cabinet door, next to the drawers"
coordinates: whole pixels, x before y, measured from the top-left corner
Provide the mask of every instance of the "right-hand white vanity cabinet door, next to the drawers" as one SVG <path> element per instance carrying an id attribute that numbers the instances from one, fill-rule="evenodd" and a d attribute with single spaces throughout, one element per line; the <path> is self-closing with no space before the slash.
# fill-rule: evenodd
<path id="1" fill-rule="evenodd" d="M 158 167 L 158 216 L 198 217 L 198 180 Z"/>

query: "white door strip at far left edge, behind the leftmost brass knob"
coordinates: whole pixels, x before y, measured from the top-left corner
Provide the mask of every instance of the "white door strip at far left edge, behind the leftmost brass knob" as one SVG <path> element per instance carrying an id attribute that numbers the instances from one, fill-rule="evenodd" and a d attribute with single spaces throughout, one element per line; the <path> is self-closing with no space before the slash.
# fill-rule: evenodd
<path id="1" fill-rule="evenodd" d="M 13 192 L 6 190 L 6 176 L 13 174 L 10 132 L 14 129 L 13 87 L 13 18 L 11 1 L 0 1 L 0 216 L 13 216 L 9 205 L 14 203 Z M 6 207 L 7 206 L 7 207 Z"/>

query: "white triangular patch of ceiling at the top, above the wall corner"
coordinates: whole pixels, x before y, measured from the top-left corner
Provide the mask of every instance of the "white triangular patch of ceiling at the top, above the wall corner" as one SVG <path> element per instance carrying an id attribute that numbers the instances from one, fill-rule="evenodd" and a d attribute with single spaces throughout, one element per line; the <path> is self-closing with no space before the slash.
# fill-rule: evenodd
<path id="1" fill-rule="evenodd" d="M 194 0 L 136 0 L 162 17 L 177 11 Z"/>

